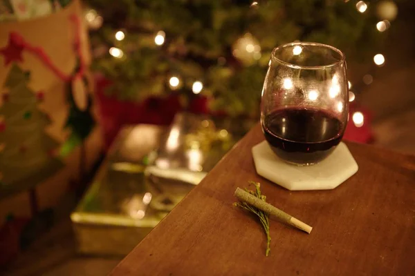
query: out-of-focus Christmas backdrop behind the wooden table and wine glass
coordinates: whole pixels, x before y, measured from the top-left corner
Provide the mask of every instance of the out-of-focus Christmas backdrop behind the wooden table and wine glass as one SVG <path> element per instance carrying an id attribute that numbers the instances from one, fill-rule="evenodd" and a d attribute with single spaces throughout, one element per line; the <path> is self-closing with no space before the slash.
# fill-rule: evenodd
<path id="1" fill-rule="evenodd" d="M 257 124 L 282 43 L 346 54 L 344 139 L 415 154 L 414 11 L 0 0 L 0 273 L 108 273 Z"/>

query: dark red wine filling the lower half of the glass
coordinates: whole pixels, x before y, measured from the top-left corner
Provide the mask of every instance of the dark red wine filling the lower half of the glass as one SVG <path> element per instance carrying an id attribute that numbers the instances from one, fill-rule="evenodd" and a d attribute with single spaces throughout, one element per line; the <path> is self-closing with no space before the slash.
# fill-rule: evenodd
<path id="1" fill-rule="evenodd" d="M 261 122 L 278 157 L 295 164 L 315 164 L 329 155 L 343 136 L 342 121 L 329 112 L 287 108 L 270 112 Z"/>

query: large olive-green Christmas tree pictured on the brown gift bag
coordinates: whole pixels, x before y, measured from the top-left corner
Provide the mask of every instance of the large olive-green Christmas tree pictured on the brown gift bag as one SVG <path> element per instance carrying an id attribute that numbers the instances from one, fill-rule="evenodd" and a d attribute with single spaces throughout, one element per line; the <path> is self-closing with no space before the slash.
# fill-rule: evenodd
<path id="1" fill-rule="evenodd" d="M 33 186 L 63 168 L 55 157 L 59 143 L 45 127 L 51 121 L 38 109 L 44 95 L 28 88 L 30 73 L 13 63 L 3 83 L 0 107 L 0 184 Z"/>

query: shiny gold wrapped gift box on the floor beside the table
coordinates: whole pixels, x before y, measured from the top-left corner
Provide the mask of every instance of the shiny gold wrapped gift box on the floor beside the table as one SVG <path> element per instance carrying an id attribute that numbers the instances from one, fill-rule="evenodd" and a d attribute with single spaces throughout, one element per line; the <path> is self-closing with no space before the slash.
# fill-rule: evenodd
<path id="1" fill-rule="evenodd" d="M 71 214 L 80 253 L 129 253 L 243 135 L 231 125 L 183 113 L 169 128 L 123 128 Z"/>

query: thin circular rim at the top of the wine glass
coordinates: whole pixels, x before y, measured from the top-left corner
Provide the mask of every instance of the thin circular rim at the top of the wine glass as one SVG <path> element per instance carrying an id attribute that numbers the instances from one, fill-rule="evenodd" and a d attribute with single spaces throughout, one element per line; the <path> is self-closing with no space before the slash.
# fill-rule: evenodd
<path id="1" fill-rule="evenodd" d="M 294 64 L 294 63 L 290 63 L 287 61 L 283 61 L 282 59 L 279 59 L 278 57 L 276 57 L 276 52 L 279 50 L 282 50 L 283 48 L 286 47 L 291 47 L 291 46 L 318 46 L 318 47 L 322 47 L 322 48 L 326 48 L 329 50 L 332 50 L 334 52 L 337 52 L 340 55 L 340 59 L 338 61 L 329 63 L 329 64 L 325 64 L 325 65 L 319 65 L 319 66 L 302 66 L 302 65 L 298 65 L 298 64 Z M 273 52 L 271 53 L 271 59 L 274 59 L 275 61 L 282 63 L 290 68 L 294 68 L 294 69 L 311 69 L 311 70 L 317 70 L 317 69 L 322 69 L 322 68 L 331 68 L 334 66 L 339 66 L 340 64 L 344 63 L 346 61 L 346 57 L 344 55 L 344 53 L 339 50 L 338 48 L 335 48 L 333 46 L 327 45 L 327 44 L 323 44 L 323 43 L 317 43 L 317 42 L 291 42 L 291 43 L 285 43 L 282 44 L 280 46 L 278 46 L 277 48 L 274 48 Z"/>

